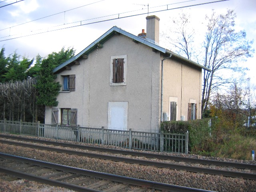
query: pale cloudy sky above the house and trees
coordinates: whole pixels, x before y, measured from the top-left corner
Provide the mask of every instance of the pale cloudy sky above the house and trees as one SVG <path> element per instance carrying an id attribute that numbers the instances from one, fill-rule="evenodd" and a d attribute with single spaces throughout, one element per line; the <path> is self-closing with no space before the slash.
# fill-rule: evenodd
<path id="1" fill-rule="evenodd" d="M 113 26 L 138 35 L 146 30 L 148 12 L 160 18 L 162 33 L 182 11 L 190 13 L 192 26 L 200 26 L 212 9 L 219 14 L 234 10 L 236 30 L 245 30 L 248 40 L 255 39 L 256 0 L 215 1 L 219 0 L 0 0 L 0 47 L 5 48 L 5 56 L 16 51 L 30 59 L 62 47 L 74 48 L 78 54 Z M 196 4 L 203 5 L 191 6 Z M 172 50 L 161 38 L 160 46 Z M 256 41 L 252 48 L 256 50 Z M 256 53 L 252 56 L 240 65 L 249 69 L 246 78 L 255 86 Z"/>

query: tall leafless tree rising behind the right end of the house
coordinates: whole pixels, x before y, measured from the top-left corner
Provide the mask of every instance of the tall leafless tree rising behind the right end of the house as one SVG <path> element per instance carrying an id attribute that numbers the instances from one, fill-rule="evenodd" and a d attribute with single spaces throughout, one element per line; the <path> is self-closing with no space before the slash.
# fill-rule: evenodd
<path id="1" fill-rule="evenodd" d="M 253 40 L 246 40 L 246 32 L 234 30 L 236 14 L 233 10 L 228 10 L 226 14 L 217 15 L 212 12 L 211 16 L 205 17 L 207 30 L 205 32 L 204 42 L 202 43 L 200 55 L 196 55 L 193 50 L 195 44 L 192 36 L 193 30 L 187 32 L 186 24 L 189 23 L 189 15 L 180 16 L 180 26 L 176 34 L 179 38 L 173 40 L 172 44 L 179 48 L 180 53 L 189 59 L 202 61 L 203 65 L 211 71 L 204 70 L 202 78 L 202 116 L 208 109 L 210 95 L 212 91 L 220 86 L 232 82 L 230 77 L 223 76 L 224 71 L 244 72 L 245 67 L 238 66 L 238 62 L 251 57 L 254 50 L 251 48 Z M 174 22 L 175 24 L 175 22 Z M 172 28 L 175 29 L 175 28 Z M 192 46 L 192 47 L 189 47 Z M 201 62 L 200 62 L 201 63 Z"/>

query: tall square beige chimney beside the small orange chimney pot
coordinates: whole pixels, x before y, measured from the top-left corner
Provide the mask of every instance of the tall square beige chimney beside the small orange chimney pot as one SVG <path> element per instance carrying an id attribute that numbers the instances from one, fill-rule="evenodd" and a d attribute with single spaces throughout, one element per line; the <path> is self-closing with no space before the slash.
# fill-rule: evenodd
<path id="1" fill-rule="evenodd" d="M 153 15 L 147 16 L 147 33 L 146 38 L 152 42 L 159 44 L 159 20 L 160 18 Z"/>

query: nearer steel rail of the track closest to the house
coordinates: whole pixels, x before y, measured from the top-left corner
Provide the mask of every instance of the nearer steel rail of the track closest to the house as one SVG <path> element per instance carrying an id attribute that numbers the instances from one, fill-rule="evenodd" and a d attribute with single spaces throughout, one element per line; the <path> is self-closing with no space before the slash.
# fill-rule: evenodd
<path id="1" fill-rule="evenodd" d="M 98 158 L 98 159 L 112 160 L 112 161 L 117 161 L 117 162 L 140 164 L 140 165 L 145 165 L 145 166 L 155 166 L 158 168 L 170 168 L 170 169 L 176 169 L 176 170 L 185 170 L 185 171 L 189 171 L 189 172 L 200 172 L 200 173 L 204 173 L 204 174 L 223 175 L 223 176 L 227 176 L 227 177 L 238 177 L 238 178 L 256 180 L 256 174 L 252 174 L 252 173 L 170 164 L 170 163 L 164 163 L 164 162 L 155 162 L 155 161 L 140 160 L 140 159 L 134 159 L 134 158 L 124 158 L 124 157 L 102 155 L 102 154 L 89 153 L 89 152 L 79 152 L 79 151 L 75 151 L 75 150 L 52 148 L 52 147 L 47 147 L 47 146 L 25 144 L 25 143 L 12 142 L 12 141 L 7 141 L 7 140 L 0 140 L 0 142 L 4 143 L 4 144 L 18 145 L 18 146 L 23 146 L 23 147 L 33 148 L 33 149 L 47 150 L 47 151 L 52 151 L 52 152 L 66 153 L 66 154 L 78 155 L 78 156 L 86 156 L 89 158 Z"/>

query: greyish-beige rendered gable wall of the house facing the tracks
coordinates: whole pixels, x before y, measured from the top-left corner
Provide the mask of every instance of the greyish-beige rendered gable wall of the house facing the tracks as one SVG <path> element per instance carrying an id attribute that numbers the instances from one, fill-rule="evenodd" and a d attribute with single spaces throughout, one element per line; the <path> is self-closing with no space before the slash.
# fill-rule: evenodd
<path id="1" fill-rule="evenodd" d="M 127 55 L 126 86 L 110 86 L 110 57 Z M 116 35 L 80 65 L 58 74 L 76 74 L 76 91 L 60 92 L 57 108 L 77 108 L 81 126 L 108 126 L 108 102 L 128 102 L 128 129 L 155 131 L 160 123 L 160 53 Z M 51 122 L 46 108 L 46 123 Z"/>

